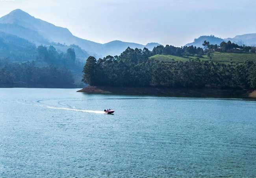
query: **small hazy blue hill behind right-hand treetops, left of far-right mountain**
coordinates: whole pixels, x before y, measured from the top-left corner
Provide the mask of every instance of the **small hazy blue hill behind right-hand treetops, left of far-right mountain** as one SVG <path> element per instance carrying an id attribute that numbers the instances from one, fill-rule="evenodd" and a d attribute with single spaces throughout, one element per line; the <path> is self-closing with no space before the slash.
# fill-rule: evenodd
<path id="1" fill-rule="evenodd" d="M 221 42 L 225 41 L 222 38 L 218 38 L 214 35 L 210 35 L 210 36 L 200 36 L 199 38 L 195 38 L 194 42 L 186 44 L 185 46 L 197 46 L 197 47 L 202 47 L 202 44 L 204 43 L 204 41 L 208 41 L 210 42 L 210 44 L 221 44 Z"/>

